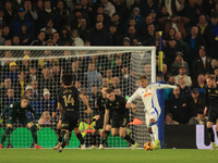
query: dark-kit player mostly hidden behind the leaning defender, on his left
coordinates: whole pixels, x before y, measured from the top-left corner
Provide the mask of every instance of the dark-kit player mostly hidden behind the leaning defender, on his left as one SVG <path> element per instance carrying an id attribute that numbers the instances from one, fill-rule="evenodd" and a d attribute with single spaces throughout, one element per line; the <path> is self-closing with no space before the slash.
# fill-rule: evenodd
<path id="1" fill-rule="evenodd" d="M 96 136 L 98 135 L 98 130 L 100 128 L 102 128 L 104 125 L 104 117 L 105 117 L 105 100 L 107 98 L 107 92 L 106 90 L 108 89 L 107 86 L 102 86 L 100 89 L 101 95 L 97 98 L 97 102 L 96 102 L 96 125 L 94 127 L 93 134 L 92 134 L 92 146 L 90 149 L 95 149 L 96 148 Z M 106 129 L 106 131 L 108 131 Z M 110 133 L 110 129 L 109 129 Z M 100 143 L 99 146 L 100 149 L 104 148 L 102 143 Z"/>

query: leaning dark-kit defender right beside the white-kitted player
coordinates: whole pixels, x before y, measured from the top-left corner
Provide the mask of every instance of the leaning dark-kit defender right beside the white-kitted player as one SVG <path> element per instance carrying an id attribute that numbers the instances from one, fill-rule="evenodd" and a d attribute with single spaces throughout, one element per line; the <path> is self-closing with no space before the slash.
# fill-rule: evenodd
<path id="1" fill-rule="evenodd" d="M 126 135 L 126 125 L 129 123 L 130 120 L 130 113 L 129 113 L 129 109 L 125 108 L 126 104 L 126 100 L 121 97 L 121 96 L 117 96 L 114 95 L 114 90 L 113 89 L 107 89 L 107 98 L 106 99 L 106 111 L 105 111 L 105 118 L 104 118 L 104 128 L 101 130 L 101 133 L 104 133 L 106 130 L 106 125 L 108 123 L 109 120 L 109 114 L 112 111 L 112 136 L 118 136 L 120 135 L 120 137 L 122 137 L 123 139 L 125 139 L 128 142 L 130 142 L 132 146 L 132 150 L 135 150 L 138 146 L 137 142 L 135 142 L 129 135 Z M 136 110 L 134 104 L 131 104 L 131 108 L 133 111 Z"/>

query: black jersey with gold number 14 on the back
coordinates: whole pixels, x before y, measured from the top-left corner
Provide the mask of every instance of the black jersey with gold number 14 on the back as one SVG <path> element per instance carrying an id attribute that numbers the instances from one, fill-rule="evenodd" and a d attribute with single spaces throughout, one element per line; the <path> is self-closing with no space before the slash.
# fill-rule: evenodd
<path id="1" fill-rule="evenodd" d="M 63 88 L 58 96 L 58 102 L 61 103 L 63 113 L 80 112 L 80 93 L 75 87 Z"/>

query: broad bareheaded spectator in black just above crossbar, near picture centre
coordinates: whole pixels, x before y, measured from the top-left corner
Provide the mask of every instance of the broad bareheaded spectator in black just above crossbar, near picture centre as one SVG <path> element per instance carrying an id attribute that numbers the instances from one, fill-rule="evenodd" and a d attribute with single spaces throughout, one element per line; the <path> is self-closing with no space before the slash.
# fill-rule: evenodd
<path id="1" fill-rule="evenodd" d="M 102 28 L 102 23 L 97 22 L 94 33 L 90 34 L 90 45 L 92 46 L 110 46 L 112 45 L 112 39 L 110 34 Z"/>

